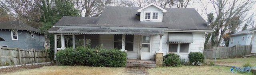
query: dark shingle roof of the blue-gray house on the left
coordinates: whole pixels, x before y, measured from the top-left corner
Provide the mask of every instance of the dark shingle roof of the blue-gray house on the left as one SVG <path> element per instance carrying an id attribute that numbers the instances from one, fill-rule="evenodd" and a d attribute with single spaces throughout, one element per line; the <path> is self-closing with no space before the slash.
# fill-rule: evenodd
<path id="1" fill-rule="evenodd" d="M 34 32 L 39 33 L 38 29 L 30 27 L 22 22 L 19 22 L 19 21 L 0 22 L 0 29 L 27 30 L 27 31 L 34 31 Z"/>

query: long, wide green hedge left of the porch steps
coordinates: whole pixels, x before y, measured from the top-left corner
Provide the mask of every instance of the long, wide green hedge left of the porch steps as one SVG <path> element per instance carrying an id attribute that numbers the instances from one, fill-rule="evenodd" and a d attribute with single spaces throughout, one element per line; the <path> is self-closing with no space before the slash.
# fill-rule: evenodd
<path id="1" fill-rule="evenodd" d="M 116 49 L 66 48 L 56 54 L 56 62 L 61 65 L 87 65 L 104 67 L 125 67 L 126 52 Z"/>

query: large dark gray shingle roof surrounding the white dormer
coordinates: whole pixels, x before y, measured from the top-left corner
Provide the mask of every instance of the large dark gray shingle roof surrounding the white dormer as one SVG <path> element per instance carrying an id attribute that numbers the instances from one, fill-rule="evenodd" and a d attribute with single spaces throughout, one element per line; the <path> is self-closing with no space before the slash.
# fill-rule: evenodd
<path id="1" fill-rule="evenodd" d="M 100 17 L 62 17 L 55 25 L 109 27 L 166 27 L 168 29 L 212 30 L 194 8 L 164 8 L 163 22 L 141 22 L 139 7 L 106 7 Z M 56 30 L 56 29 L 50 29 Z"/>

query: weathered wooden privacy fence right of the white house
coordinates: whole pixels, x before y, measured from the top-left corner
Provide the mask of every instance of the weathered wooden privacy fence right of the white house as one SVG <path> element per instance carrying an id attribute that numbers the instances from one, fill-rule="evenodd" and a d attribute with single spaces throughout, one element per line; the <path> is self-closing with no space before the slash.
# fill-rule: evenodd
<path id="1" fill-rule="evenodd" d="M 236 58 L 251 53 L 252 45 L 240 45 L 235 47 L 212 47 L 212 49 L 204 50 L 205 58 Z"/>

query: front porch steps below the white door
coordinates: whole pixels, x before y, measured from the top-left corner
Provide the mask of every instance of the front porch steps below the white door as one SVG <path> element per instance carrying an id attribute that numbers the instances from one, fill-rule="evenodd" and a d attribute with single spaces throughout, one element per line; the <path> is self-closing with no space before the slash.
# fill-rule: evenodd
<path id="1" fill-rule="evenodd" d="M 156 67 L 154 60 L 127 60 L 126 67 Z"/>

